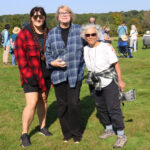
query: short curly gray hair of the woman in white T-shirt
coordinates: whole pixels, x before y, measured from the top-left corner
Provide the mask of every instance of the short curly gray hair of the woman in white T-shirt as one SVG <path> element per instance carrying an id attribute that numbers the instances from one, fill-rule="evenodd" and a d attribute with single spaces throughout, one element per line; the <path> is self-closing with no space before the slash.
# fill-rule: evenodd
<path id="1" fill-rule="evenodd" d="M 91 24 L 91 23 L 89 23 L 89 24 L 83 24 L 83 25 L 82 25 L 81 37 L 82 37 L 83 39 L 85 39 L 85 31 L 86 31 L 87 29 L 89 29 L 89 28 L 95 28 L 96 33 L 97 33 L 97 37 L 98 37 L 98 39 L 99 39 L 100 36 L 101 36 L 101 26 L 98 25 L 98 24 Z"/>

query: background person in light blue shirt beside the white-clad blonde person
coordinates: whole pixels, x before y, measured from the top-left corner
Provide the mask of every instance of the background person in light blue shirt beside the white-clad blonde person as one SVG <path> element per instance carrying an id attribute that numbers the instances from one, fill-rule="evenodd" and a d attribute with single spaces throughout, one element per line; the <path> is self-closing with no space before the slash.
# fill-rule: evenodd
<path id="1" fill-rule="evenodd" d="M 122 21 L 122 24 L 118 27 L 117 32 L 119 40 L 121 40 L 122 35 L 128 35 L 128 28 L 125 21 Z"/>

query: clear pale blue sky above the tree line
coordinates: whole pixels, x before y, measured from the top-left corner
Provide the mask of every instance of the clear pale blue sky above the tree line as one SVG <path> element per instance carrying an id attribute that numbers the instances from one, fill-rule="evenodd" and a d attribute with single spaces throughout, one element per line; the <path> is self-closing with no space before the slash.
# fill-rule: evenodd
<path id="1" fill-rule="evenodd" d="M 61 5 L 69 6 L 77 14 L 150 10 L 150 0 L 0 0 L 0 16 L 28 14 L 35 6 L 55 13 Z"/>

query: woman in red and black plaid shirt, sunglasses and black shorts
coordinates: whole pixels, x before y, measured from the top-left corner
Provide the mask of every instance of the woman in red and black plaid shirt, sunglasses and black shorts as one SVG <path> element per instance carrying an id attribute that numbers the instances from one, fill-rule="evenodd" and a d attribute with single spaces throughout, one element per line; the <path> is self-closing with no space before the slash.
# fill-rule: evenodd
<path id="1" fill-rule="evenodd" d="M 51 85 L 50 70 L 45 64 L 45 42 L 48 29 L 46 13 L 42 7 L 34 7 L 30 12 L 30 24 L 20 31 L 15 41 L 15 57 L 20 71 L 26 106 L 22 114 L 23 147 L 31 145 L 28 129 L 35 109 L 40 122 L 39 133 L 52 135 L 46 128 L 47 97 Z"/>

